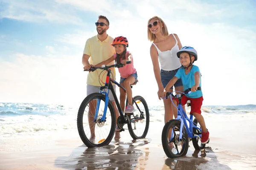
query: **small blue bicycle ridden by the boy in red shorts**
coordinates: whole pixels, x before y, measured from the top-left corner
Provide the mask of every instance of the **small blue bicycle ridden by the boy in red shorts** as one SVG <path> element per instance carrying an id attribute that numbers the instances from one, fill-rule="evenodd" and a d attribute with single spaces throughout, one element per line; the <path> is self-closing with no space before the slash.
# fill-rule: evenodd
<path id="1" fill-rule="evenodd" d="M 197 90 L 201 90 L 201 87 L 199 87 Z M 172 93 L 174 92 L 175 91 Z M 164 125 L 162 132 L 162 144 L 166 156 L 169 158 L 177 158 L 186 155 L 189 148 L 189 142 L 191 140 L 195 150 L 204 149 L 205 144 L 201 144 L 202 130 L 201 127 L 198 126 L 197 119 L 194 119 L 193 121 L 193 115 L 190 115 L 190 118 L 188 118 L 181 105 L 182 96 L 191 93 L 191 88 L 185 90 L 184 93 L 180 92 L 180 94 L 176 95 L 173 95 L 172 93 L 168 92 L 165 98 L 167 99 L 172 96 L 178 99 L 178 107 L 176 107 L 172 102 L 174 107 L 177 108 L 177 118 L 169 120 Z"/>

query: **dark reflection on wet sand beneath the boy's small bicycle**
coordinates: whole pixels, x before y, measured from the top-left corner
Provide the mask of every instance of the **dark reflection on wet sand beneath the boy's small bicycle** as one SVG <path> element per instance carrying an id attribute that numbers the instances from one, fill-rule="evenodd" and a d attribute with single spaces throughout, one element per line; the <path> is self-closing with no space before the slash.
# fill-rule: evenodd
<path id="1" fill-rule="evenodd" d="M 166 168 L 166 165 L 168 168 Z M 176 159 L 167 158 L 162 170 L 231 170 L 225 164 L 221 164 L 211 147 L 203 150 L 195 150 L 192 156 L 183 156 Z"/>

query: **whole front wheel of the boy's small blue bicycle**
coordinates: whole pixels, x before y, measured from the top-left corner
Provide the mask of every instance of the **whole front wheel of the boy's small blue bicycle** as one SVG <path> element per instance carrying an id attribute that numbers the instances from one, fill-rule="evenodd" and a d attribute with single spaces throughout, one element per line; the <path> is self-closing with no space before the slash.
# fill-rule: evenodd
<path id="1" fill-rule="evenodd" d="M 172 134 L 173 133 L 173 134 Z M 189 137 L 185 126 L 182 130 L 182 140 L 180 136 L 180 121 L 172 119 L 166 122 L 162 132 L 163 150 L 169 158 L 185 156 L 189 149 Z"/>

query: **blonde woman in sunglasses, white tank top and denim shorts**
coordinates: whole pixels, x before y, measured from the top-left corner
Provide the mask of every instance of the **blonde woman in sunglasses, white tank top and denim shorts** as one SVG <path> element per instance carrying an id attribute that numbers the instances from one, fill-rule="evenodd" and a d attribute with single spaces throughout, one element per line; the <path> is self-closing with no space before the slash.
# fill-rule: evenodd
<path id="1" fill-rule="evenodd" d="M 169 34 L 166 24 L 157 16 L 148 20 L 148 40 L 153 41 L 150 47 L 150 55 L 158 85 L 157 95 L 160 99 L 163 89 L 181 66 L 180 60 L 177 57 L 177 51 L 182 48 L 182 45 L 178 36 L 176 34 Z M 175 91 L 183 91 L 181 79 L 175 83 L 174 87 Z M 169 92 L 172 91 L 173 87 L 169 89 Z M 173 119 L 172 102 L 170 99 L 163 99 L 163 103 L 165 109 L 164 122 L 166 123 Z M 177 113 L 175 113 L 175 117 L 177 117 Z"/>

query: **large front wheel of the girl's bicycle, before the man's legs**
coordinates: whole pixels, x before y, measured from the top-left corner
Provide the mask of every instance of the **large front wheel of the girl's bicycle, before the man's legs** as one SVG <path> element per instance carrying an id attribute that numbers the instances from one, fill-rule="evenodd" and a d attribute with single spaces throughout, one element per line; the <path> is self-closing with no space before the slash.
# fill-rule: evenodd
<path id="1" fill-rule="evenodd" d="M 93 93 L 88 95 L 80 105 L 77 128 L 81 140 L 87 147 L 108 145 L 113 138 L 116 115 L 111 101 L 108 102 L 106 118 L 102 121 L 105 97 L 103 94 Z"/>

